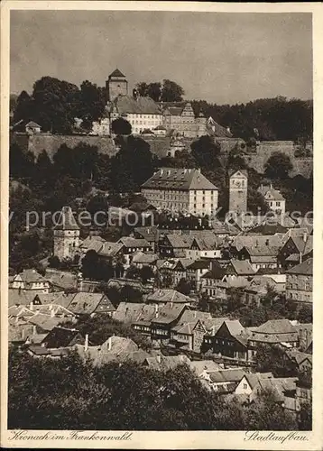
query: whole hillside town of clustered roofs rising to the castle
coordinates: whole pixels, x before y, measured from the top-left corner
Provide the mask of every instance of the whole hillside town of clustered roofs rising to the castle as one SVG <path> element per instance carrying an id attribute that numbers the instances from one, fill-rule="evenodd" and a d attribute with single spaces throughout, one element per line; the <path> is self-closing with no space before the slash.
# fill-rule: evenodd
<path id="1" fill-rule="evenodd" d="M 302 147 L 311 175 L 278 141 L 257 171 L 257 131 L 248 141 L 189 101 L 139 90 L 129 95 L 120 69 L 106 80 L 103 114 L 86 134 L 111 139 L 109 156 L 83 143 L 85 119 L 75 116 L 77 151 L 66 141 L 27 161 L 23 136 L 64 136 L 12 115 L 10 349 L 27 365 L 74 358 L 166 378 L 186 368 L 219 405 L 260 409 L 270 393 L 300 425 L 312 399 L 311 144 Z M 153 139 L 157 159 L 144 147 Z M 39 206 L 50 203 L 41 223 Z"/>

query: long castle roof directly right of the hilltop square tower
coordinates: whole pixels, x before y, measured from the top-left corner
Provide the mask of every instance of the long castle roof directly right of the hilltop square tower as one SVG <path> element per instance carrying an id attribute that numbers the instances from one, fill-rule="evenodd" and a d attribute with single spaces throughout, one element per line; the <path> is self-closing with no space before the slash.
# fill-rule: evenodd
<path id="1" fill-rule="evenodd" d="M 159 106 L 151 97 L 118 96 L 113 101 L 114 109 L 119 115 L 162 115 Z"/>

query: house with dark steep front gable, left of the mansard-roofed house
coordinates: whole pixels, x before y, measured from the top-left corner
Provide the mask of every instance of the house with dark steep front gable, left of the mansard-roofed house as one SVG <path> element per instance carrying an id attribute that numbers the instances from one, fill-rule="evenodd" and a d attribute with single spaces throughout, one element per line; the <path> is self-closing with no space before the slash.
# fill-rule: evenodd
<path id="1" fill-rule="evenodd" d="M 248 360 L 249 332 L 240 322 L 227 319 L 213 336 L 213 352 L 237 360 Z"/>

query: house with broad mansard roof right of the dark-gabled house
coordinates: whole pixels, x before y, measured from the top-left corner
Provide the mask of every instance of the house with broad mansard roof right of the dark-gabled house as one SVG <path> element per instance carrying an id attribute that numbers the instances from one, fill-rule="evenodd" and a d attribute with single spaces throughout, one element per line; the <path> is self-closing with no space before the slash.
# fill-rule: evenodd
<path id="1" fill-rule="evenodd" d="M 283 345 L 297 347 L 299 334 L 289 319 L 270 319 L 259 327 L 253 327 L 248 338 L 248 359 L 253 360 L 258 345 Z"/>

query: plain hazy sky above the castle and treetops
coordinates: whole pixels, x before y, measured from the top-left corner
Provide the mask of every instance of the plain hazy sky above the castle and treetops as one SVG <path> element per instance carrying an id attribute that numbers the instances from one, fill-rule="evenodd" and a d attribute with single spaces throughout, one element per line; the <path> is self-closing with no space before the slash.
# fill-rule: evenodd
<path id="1" fill-rule="evenodd" d="M 132 88 L 169 78 L 220 104 L 312 98 L 311 14 L 12 11 L 12 93 L 43 76 Z"/>

